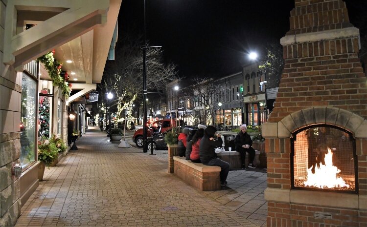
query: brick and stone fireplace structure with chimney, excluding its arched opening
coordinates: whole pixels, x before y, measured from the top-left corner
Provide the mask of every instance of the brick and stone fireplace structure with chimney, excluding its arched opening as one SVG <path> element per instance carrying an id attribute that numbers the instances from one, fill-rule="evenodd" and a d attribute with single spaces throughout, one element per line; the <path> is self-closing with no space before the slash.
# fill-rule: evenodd
<path id="1" fill-rule="evenodd" d="M 284 70 L 262 134 L 267 153 L 268 227 L 356 226 L 367 210 L 367 79 L 359 30 L 343 0 L 295 0 L 290 31 L 280 40 Z M 291 137 L 310 125 L 332 125 L 355 140 L 354 194 L 295 190 Z"/>

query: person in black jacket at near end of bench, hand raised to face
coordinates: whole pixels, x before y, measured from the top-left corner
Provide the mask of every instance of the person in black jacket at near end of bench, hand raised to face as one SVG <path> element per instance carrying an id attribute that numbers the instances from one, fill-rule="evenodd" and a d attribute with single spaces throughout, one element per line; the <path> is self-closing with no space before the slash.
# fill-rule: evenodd
<path id="1" fill-rule="evenodd" d="M 227 176 L 229 172 L 229 163 L 217 158 L 215 148 L 222 146 L 223 140 L 220 134 L 214 135 L 217 130 L 209 125 L 204 130 L 204 137 L 200 141 L 199 156 L 204 165 L 218 165 L 221 167 L 219 178 L 221 186 L 227 185 Z"/>

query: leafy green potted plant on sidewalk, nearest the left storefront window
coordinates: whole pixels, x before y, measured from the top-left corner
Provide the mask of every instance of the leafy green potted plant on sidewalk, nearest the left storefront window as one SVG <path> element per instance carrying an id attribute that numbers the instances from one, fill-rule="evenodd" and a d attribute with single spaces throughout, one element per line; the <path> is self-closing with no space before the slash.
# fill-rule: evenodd
<path id="1" fill-rule="evenodd" d="M 45 166 L 50 166 L 50 164 L 57 159 L 57 154 L 59 150 L 55 144 L 50 143 L 46 138 L 42 138 L 38 142 L 38 161 L 41 162 L 38 170 L 38 179 L 43 180 L 45 173 Z"/>

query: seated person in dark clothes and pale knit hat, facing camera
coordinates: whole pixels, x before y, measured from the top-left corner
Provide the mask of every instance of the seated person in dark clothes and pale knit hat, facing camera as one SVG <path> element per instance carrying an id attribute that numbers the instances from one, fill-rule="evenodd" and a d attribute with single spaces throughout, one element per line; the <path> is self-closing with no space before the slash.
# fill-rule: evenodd
<path id="1" fill-rule="evenodd" d="M 252 164 L 255 158 L 255 150 L 252 148 L 252 139 L 250 135 L 246 132 L 246 124 L 240 126 L 240 132 L 234 138 L 234 143 L 236 144 L 236 151 L 240 153 L 242 168 L 245 168 L 245 158 L 246 152 L 249 153 L 249 168 L 255 168 Z"/>

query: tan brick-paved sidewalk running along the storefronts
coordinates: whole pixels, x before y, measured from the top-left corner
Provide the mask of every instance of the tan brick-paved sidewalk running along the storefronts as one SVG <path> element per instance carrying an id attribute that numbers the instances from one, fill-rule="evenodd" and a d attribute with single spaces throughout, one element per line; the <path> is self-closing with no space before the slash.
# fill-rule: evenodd
<path id="1" fill-rule="evenodd" d="M 265 173 L 231 171 L 229 187 L 200 192 L 167 173 L 167 159 L 162 155 L 142 153 L 135 147 L 118 148 L 95 128 L 77 141 L 79 150 L 70 151 L 58 166 L 46 169 L 44 181 L 22 207 L 16 227 L 264 224 L 262 216 L 251 215 L 256 215 L 254 209 L 259 215 L 266 210 Z M 248 175 L 247 180 L 241 178 L 243 174 Z M 262 187 L 256 191 L 254 185 Z"/>

